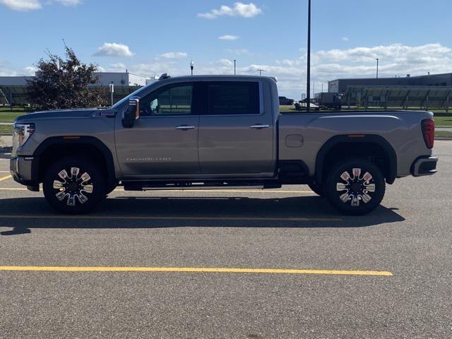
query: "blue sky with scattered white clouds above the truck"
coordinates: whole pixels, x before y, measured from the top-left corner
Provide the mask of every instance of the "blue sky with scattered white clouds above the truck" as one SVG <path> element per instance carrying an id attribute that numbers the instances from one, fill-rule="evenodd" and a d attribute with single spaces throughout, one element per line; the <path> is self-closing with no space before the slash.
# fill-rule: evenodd
<path id="1" fill-rule="evenodd" d="M 105 71 L 277 76 L 305 88 L 305 0 L 0 0 L 0 76 L 28 75 L 62 39 Z M 313 0 L 312 78 L 452 72 L 451 0 Z"/>

